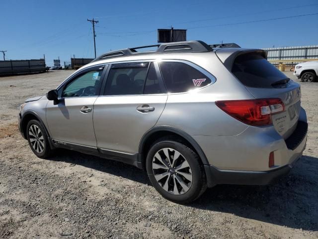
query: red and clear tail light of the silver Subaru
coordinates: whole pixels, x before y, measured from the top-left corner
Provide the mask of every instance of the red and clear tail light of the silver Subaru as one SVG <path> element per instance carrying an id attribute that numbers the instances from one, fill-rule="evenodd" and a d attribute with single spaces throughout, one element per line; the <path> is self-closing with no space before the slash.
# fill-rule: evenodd
<path id="1" fill-rule="evenodd" d="M 216 105 L 235 119 L 253 126 L 272 124 L 271 115 L 285 111 L 284 103 L 278 98 L 217 101 Z"/>

